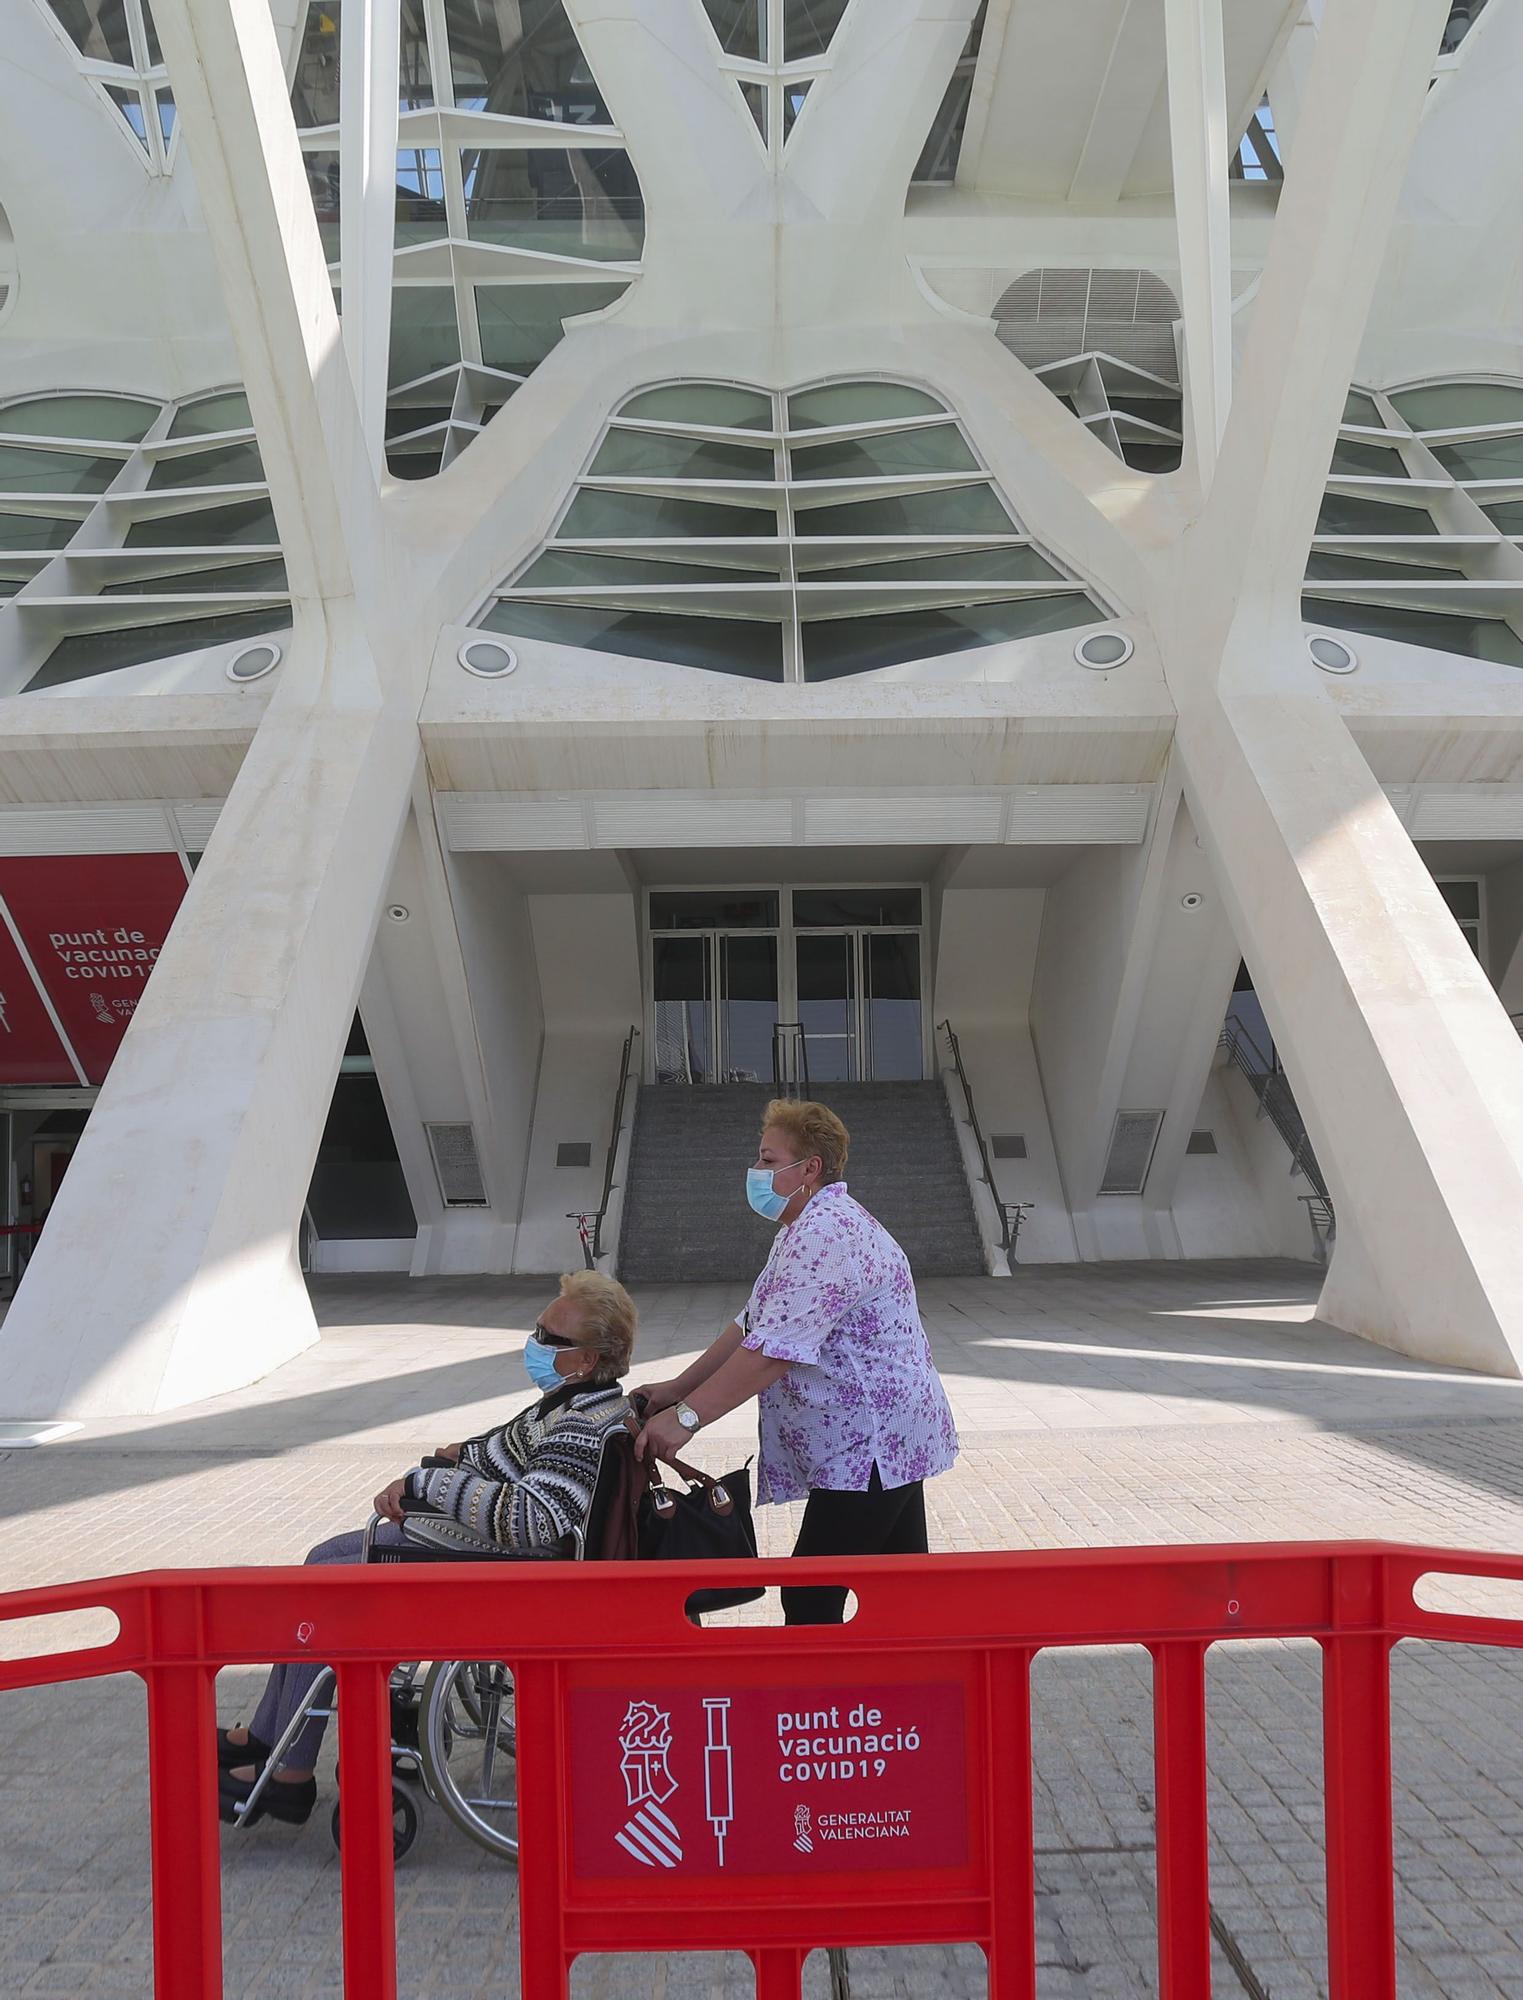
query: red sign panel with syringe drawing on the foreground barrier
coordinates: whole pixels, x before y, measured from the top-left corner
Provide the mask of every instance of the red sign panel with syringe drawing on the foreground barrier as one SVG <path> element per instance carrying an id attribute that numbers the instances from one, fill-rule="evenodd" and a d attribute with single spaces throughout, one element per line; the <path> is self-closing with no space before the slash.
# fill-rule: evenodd
<path id="1" fill-rule="evenodd" d="M 576 1874 L 957 1868 L 965 1768 L 957 1682 L 580 1690 Z"/>

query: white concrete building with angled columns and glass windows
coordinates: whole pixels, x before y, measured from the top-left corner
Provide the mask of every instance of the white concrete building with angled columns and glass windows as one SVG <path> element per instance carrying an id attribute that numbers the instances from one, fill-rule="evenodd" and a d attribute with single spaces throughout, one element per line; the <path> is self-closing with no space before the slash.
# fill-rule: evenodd
<path id="1" fill-rule="evenodd" d="M 4 12 L 2 1416 L 730 1276 L 805 1076 L 1523 1372 L 1523 0 Z"/>

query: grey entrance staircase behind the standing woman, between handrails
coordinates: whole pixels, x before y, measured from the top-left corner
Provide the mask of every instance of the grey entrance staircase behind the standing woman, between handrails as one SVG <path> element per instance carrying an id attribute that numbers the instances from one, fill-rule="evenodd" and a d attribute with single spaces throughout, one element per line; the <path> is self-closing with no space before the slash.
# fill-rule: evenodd
<path id="1" fill-rule="evenodd" d="M 775 1230 L 746 1206 L 746 1168 L 773 1094 L 765 1084 L 640 1090 L 618 1264 L 626 1284 L 756 1278 Z M 819 1084 L 813 1096 L 851 1134 L 851 1194 L 899 1240 L 915 1276 L 981 1274 L 973 1198 L 939 1080 Z"/>

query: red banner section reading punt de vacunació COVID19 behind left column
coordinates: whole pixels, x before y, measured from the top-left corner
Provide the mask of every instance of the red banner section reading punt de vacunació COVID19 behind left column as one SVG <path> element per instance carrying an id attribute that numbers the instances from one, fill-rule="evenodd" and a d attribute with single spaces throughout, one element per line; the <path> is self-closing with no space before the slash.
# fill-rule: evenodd
<path id="1" fill-rule="evenodd" d="M 92 1084 L 106 1080 L 184 894 L 178 854 L 0 860 L 0 898 Z M 0 1048 L 0 1080 L 20 1082 L 6 1062 Z M 76 1082 L 68 1064 L 64 1080 Z"/>

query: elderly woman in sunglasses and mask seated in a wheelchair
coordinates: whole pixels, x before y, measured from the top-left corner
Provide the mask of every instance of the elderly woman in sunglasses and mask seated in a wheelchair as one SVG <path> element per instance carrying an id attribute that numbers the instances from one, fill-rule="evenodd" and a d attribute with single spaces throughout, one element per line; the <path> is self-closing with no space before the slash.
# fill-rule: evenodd
<path id="1" fill-rule="evenodd" d="M 614 1516 L 634 1518 L 636 1472 L 628 1450 L 630 1400 L 620 1382 L 634 1354 L 638 1314 L 614 1278 L 580 1270 L 560 1282 L 524 1348 L 540 1400 L 510 1422 L 450 1444 L 376 1494 L 376 1518 L 320 1542 L 308 1562 L 410 1562 L 582 1556 L 620 1552 L 598 1536 Z M 610 1482 L 610 1474 L 616 1478 Z M 624 1484 L 628 1482 L 628 1484 Z M 610 1506 L 610 1484 L 624 1484 Z M 594 1520 L 594 1510 L 600 1520 Z M 248 1726 L 218 1730 L 218 1804 L 230 1824 L 256 1818 L 302 1826 L 318 1798 L 316 1760 L 332 1706 L 328 1668 L 306 1660 L 276 1666 Z M 402 1668 L 392 1684 L 392 1766 L 402 1818 L 398 1852 L 416 1832 L 410 1776 L 422 1766 L 428 1790 L 484 1846 L 516 1852 L 506 1818 L 516 1796 L 494 1772 L 512 1764 L 512 1684 L 490 1662 L 436 1662 Z M 472 1758 L 462 1784 L 452 1774 Z M 480 1768 L 476 1760 L 480 1756 Z M 496 1796 L 506 1794 L 506 1796 Z"/>

